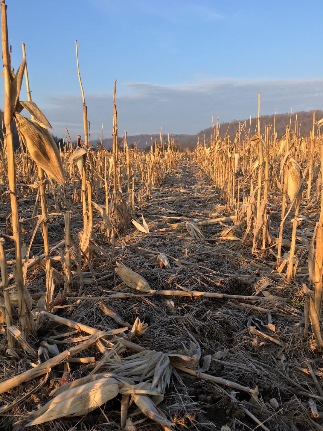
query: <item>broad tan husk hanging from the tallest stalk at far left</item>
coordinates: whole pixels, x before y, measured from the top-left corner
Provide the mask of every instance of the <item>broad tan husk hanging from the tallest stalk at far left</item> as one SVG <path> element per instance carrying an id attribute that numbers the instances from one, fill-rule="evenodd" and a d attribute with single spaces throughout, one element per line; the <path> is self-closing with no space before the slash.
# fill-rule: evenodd
<path id="1" fill-rule="evenodd" d="M 50 175 L 59 184 L 64 184 L 61 156 L 47 128 L 20 114 L 16 113 L 15 117 L 17 129 L 31 158 L 47 175 Z"/>

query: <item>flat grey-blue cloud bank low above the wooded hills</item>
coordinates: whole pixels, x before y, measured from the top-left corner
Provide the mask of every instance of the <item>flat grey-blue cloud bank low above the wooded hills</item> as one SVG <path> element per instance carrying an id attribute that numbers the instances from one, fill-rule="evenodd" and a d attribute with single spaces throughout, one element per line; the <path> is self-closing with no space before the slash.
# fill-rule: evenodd
<path id="1" fill-rule="evenodd" d="M 261 114 L 322 109 L 323 79 L 250 80 L 210 79 L 200 83 L 160 85 L 144 82 L 122 84 L 116 96 L 118 128 L 128 135 L 158 133 L 196 134 L 211 123 L 213 113 L 220 121 L 245 119 L 258 112 L 261 92 Z M 86 94 L 92 138 L 112 134 L 112 94 Z M 54 133 L 65 133 L 65 125 L 74 136 L 83 134 L 83 108 L 80 95 L 64 95 L 44 100 L 43 109 Z M 72 139 L 74 139 L 72 137 Z"/>

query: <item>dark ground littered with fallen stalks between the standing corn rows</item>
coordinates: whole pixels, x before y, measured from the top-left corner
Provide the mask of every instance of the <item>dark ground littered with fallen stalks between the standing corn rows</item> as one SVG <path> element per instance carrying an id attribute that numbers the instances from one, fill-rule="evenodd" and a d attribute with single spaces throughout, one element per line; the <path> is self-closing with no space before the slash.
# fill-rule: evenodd
<path id="1" fill-rule="evenodd" d="M 274 269 L 269 250 L 252 255 L 235 212 L 195 157 L 182 155 L 113 247 L 105 240 L 104 218 L 93 214 L 92 244 L 99 247 L 90 261 L 78 247 L 82 207 L 74 206 L 70 286 L 64 217 L 49 216 L 50 246 L 58 248 L 51 253 L 55 287 L 48 312 L 36 229 L 25 279 L 35 327 L 28 342 L 9 329 L 16 338 L 7 350 L 11 359 L 3 332 L 3 427 L 141 430 L 155 428 L 155 421 L 160 429 L 179 430 L 319 428 L 311 407 L 320 411 L 322 362 L 311 331 L 304 336 L 304 250 L 292 282 Z M 21 197 L 23 244 L 31 242 L 31 221 L 41 219 L 31 214 L 36 197 Z M 48 206 L 54 208 L 53 197 Z M 4 208 L 9 212 L 9 203 Z M 278 233 L 278 194 L 270 208 Z M 300 215 L 306 211 L 304 205 Z M 3 226 L 8 215 L 1 214 Z M 3 237 L 12 265 L 10 235 Z M 14 309 L 15 291 L 11 284 Z"/>

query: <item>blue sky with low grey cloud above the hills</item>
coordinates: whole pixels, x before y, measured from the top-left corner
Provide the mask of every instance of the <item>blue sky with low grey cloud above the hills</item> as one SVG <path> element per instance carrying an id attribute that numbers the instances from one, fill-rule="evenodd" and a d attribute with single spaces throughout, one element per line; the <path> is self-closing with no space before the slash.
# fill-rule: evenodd
<path id="1" fill-rule="evenodd" d="M 7 0 L 12 65 L 25 42 L 32 98 L 61 136 L 195 134 L 261 113 L 323 108 L 322 0 Z M 0 88 L 3 101 L 3 85 Z M 25 87 L 21 99 L 24 100 Z M 3 103 L 2 103 L 3 104 Z"/>

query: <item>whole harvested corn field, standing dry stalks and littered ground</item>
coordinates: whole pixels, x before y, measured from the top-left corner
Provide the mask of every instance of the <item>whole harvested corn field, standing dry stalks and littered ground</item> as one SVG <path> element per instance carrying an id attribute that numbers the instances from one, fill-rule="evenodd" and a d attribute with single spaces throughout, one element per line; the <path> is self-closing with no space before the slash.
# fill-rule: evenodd
<path id="1" fill-rule="evenodd" d="M 323 119 L 93 148 L 75 41 L 57 147 L 1 25 L 0 428 L 323 430 Z"/>

